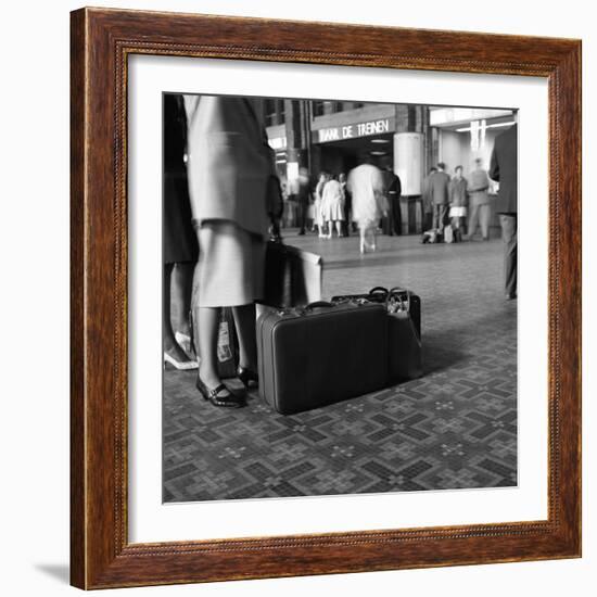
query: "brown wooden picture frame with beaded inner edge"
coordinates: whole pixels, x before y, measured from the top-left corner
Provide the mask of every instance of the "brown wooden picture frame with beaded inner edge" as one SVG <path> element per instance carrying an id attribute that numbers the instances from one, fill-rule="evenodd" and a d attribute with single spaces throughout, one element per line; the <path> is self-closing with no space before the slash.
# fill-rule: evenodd
<path id="1" fill-rule="evenodd" d="M 543 77 L 549 96 L 548 517 L 131 544 L 127 60 L 242 59 Z M 104 9 L 72 13 L 72 584 L 106 588 L 581 555 L 581 42 Z"/>

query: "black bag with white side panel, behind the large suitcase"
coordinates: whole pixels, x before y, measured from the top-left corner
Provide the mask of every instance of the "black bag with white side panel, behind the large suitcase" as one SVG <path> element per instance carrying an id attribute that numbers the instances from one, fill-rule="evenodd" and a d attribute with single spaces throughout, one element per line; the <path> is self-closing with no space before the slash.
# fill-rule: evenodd
<path id="1" fill-rule="evenodd" d="M 269 241 L 265 256 L 265 296 L 274 307 L 302 307 L 321 297 L 323 259 L 282 242 Z"/>

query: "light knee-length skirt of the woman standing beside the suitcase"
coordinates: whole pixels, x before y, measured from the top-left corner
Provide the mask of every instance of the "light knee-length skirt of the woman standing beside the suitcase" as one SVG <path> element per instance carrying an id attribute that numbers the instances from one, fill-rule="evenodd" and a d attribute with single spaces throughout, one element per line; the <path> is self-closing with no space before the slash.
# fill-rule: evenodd
<path id="1" fill-rule="evenodd" d="M 265 247 L 262 236 L 228 220 L 204 220 L 199 231 L 196 305 L 233 307 L 263 298 Z"/>

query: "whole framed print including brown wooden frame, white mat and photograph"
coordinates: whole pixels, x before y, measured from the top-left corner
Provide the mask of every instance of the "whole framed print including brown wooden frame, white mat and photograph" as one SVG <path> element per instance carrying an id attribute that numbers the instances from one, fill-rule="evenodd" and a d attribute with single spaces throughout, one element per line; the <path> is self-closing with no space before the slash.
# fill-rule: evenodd
<path id="1" fill-rule="evenodd" d="M 581 43 L 72 13 L 72 583 L 579 557 Z"/>

